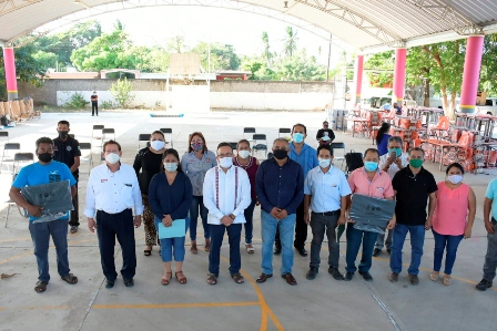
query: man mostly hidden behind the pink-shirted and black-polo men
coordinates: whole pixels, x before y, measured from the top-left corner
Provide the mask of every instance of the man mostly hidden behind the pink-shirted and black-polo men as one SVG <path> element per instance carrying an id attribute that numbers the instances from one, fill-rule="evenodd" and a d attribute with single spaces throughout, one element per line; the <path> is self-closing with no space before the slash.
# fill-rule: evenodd
<path id="1" fill-rule="evenodd" d="M 397 174 L 399 169 L 406 167 L 409 164 L 409 162 L 407 161 L 407 153 L 402 152 L 402 138 L 393 136 L 388 139 L 388 153 L 379 157 L 378 168 L 387 173 L 390 179 L 394 178 L 395 174 Z M 394 231 L 387 229 L 385 229 L 385 231 L 388 231 L 386 241 L 385 234 L 378 234 L 378 237 L 376 238 L 375 250 L 373 251 L 374 257 L 377 257 L 382 252 L 384 242 L 386 246 L 386 251 L 388 254 L 390 252 L 392 234 Z"/>

